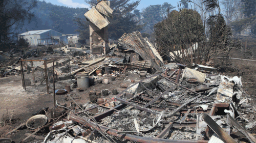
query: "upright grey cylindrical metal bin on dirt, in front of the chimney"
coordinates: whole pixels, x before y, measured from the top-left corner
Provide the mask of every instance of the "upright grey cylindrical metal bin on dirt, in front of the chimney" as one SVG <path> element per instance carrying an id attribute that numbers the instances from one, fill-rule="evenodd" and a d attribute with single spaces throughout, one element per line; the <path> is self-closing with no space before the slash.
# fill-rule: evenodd
<path id="1" fill-rule="evenodd" d="M 77 87 L 81 89 L 87 89 L 90 87 L 89 75 L 88 73 L 77 73 Z"/>

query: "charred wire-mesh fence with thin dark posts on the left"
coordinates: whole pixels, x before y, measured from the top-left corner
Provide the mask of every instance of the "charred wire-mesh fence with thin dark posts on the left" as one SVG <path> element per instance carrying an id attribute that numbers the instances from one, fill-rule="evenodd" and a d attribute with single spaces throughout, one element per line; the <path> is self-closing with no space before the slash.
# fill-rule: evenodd
<path id="1" fill-rule="evenodd" d="M 53 92 L 53 62 L 55 81 L 71 79 L 71 60 L 69 57 L 44 57 L 20 60 L 22 85 L 26 91 L 35 89 L 42 93 Z"/>

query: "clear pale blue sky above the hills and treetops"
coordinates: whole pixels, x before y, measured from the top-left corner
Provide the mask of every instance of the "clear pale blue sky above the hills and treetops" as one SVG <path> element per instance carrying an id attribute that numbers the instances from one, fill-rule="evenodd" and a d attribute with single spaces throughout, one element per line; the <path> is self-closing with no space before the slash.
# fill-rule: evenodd
<path id="1" fill-rule="evenodd" d="M 40 0 L 42 1 L 42 0 Z M 89 8 L 89 5 L 84 2 L 83 0 L 45 0 L 47 3 L 52 3 L 54 5 L 58 6 L 67 6 L 67 7 L 72 7 L 72 8 Z M 96 1 L 96 0 L 95 0 Z M 141 0 L 140 5 L 137 7 L 137 9 L 141 10 L 143 8 L 146 8 L 147 6 L 150 5 L 162 5 L 164 2 L 167 2 L 169 4 L 172 4 L 173 6 L 177 7 L 177 3 L 180 0 L 171 0 L 171 1 L 166 1 L 166 0 Z"/>

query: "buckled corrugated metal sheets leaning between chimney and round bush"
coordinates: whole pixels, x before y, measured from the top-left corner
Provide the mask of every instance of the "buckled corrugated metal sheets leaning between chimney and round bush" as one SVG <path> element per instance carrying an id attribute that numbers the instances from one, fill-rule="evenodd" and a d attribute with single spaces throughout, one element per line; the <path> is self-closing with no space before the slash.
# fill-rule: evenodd
<path id="1" fill-rule="evenodd" d="M 158 71 L 162 71 L 159 66 L 159 63 L 156 60 L 156 56 L 154 55 L 150 46 L 141 36 L 140 32 L 136 31 L 130 34 L 125 33 L 118 41 L 123 46 L 137 52 L 144 61 L 151 60 L 153 68 L 155 68 Z"/>

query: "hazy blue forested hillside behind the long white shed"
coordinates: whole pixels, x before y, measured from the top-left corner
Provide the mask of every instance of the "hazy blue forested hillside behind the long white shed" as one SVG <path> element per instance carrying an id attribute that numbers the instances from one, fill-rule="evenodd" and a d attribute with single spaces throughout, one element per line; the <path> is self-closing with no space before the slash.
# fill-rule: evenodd
<path id="1" fill-rule="evenodd" d="M 88 11 L 87 8 L 69 8 L 53 5 L 45 1 L 37 2 L 37 7 L 33 9 L 35 17 L 25 26 L 20 28 L 19 33 L 33 30 L 52 29 L 63 34 L 73 34 L 77 29 L 73 22 L 74 17 L 84 17 L 83 14 Z"/>

